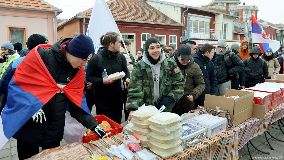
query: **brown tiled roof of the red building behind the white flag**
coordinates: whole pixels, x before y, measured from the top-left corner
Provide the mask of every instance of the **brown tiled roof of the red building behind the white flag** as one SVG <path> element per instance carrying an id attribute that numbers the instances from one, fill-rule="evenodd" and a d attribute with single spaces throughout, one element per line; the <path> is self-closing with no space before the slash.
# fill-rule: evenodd
<path id="1" fill-rule="evenodd" d="M 116 21 L 134 21 L 181 26 L 180 23 L 164 15 L 144 0 L 110 0 L 107 4 Z M 86 11 L 82 11 L 76 14 L 76 16 L 90 17 L 92 9 L 93 8 L 89 8 Z"/>

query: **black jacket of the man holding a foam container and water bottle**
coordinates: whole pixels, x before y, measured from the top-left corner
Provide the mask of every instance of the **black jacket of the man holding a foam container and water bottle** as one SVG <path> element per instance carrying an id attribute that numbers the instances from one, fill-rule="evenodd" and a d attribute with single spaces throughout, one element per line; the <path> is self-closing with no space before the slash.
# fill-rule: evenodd
<path id="1" fill-rule="evenodd" d="M 105 85 L 103 84 L 102 72 L 104 69 L 106 69 L 108 75 L 111 75 L 116 72 L 124 71 L 125 76 L 123 79 L 125 81 L 126 78 L 130 78 L 126 58 L 120 53 L 117 53 L 118 55 L 116 57 L 110 57 L 108 54 L 108 49 L 104 49 L 104 47 L 99 48 L 98 54 L 93 56 L 93 58 L 89 61 L 86 73 L 86 79 L 89 82 L 94 83 L 93 88 L 95 93 L 95 101 L 110 102 L 110 100 L 121 100 L 121 79 Z M 102 58 L 101 65 L 99 64 L 98 57 Z"/>

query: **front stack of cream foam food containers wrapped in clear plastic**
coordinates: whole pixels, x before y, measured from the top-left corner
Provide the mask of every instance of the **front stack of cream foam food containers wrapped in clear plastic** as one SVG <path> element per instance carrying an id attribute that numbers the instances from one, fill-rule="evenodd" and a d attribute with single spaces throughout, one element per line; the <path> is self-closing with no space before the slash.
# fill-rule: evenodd
<path id="1" fill-rule="evenodd" d="M 183 151 L 182 141 L 179 139 L 181 120 L 179 115 L 169 112 L 158 113 L 149 118 L 151 132 L 147 137 L 150 138 L 148 145 L 152 152 L 166 159 Z"/>

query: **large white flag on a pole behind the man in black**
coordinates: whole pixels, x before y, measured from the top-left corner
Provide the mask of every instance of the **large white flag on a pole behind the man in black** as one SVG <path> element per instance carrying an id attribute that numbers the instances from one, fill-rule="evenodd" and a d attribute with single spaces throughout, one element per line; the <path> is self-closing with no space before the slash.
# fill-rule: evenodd
<path id="1" fill-rule="evenodd" d="M 86 33 L 93 40 L 95 53 L 98 52 L 99 47 L 102 47 L 100 37 L 109 31 L 117 32 L 122 38 L 105 0 L 96 0 Z"/>

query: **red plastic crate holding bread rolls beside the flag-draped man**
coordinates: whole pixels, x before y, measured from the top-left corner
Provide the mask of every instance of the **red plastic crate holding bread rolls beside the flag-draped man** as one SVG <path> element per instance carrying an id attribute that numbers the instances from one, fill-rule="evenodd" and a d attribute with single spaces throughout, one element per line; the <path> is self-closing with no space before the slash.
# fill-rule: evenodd
<path id="1" fill-rule="evenodd" d="M 106 137 L 113 136 L 113 135 L 116 135 L 116 134 L 122 132 L 122 126 L 119 125 L 118 123 L 116 123 L 115 121 L 109 119 L 105 115 L 94 116 L 94 118 L 98 121 L 99 124 L 102 123 L 102 121 L 107 121 L 111 125 L 112 129 L 105 131 L 106 133 L 111 132 L 111 134 L 109 134 Z M 95 141 L 95 140 L 98 140 L 98 139 L 99 139 L 98 135 L 96 135 L 96 134 L 92 134 L 92 135 L 89 135 L 89 136 L 83 136 L 81 143 L 88 143 L 90 141 Z"/>

